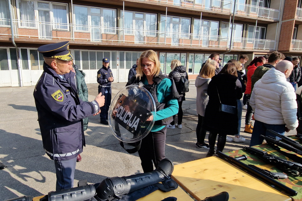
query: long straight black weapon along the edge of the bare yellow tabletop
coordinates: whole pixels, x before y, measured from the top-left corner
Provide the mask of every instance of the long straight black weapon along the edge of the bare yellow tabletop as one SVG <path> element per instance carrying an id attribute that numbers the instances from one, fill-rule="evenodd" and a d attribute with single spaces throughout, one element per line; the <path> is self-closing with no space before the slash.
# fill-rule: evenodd
<path id="1" fill-rule="evenodd" d="M 271 187 L 284 193 L 285 195 L 296 196 L 298 194 L 297 191 L 285 186 L 284 184 L 276 181 L 275 179 L 268 177 L 267 175 L 263 174 L 262 172 L 256 170 L 255 168 L 252 168 L 252 167 L 248 166 L 247 164 L 244 164 L 241 161 L 236 160 L 233 157 L 222 153 L 221 151 L 216 151 L 216 154 L 219 158 L 226 160 L 227 162 L 233 164 L 236 167 L 239 167 L 240 169 L 243 169 L 248 174 L 253 175 L 255 177 L 259 177 L 259 178 L 263 179 L 265 182 L 269 182 Z"/>

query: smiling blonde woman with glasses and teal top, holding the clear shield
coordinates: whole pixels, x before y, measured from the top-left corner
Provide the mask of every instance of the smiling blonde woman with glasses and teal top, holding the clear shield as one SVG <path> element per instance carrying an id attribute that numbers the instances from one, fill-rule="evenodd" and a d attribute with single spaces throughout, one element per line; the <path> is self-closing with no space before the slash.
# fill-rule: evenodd
<path id="1" fill-rule="evenodd" d="M 133 78 L 128 81 L 127 85 L 139 81 L 144 84 L 147 90 L 149 89 L 151 91 L 155 84 L 153 79 L 162 74 L 160 66 L 161 64 L 158 60 L 158 56 L 153 50 L 144 51 L 138 59 L 137 78 L 136 80 L 133 80 L 135 78 L 135 76 L 133 76 Z M 171 123 L 172 116 L 176 115 L 178 112 L 177 98 L 179 96 L 177 91 L 176 93 L 173 93 L 173 85 L 173 80 L 171 81 L 166 77 L 155 86 L 158 102 L 166 103 L 167 107 L 156 111 L 154 126 L 151 129 L 151 132 L 141 141 L 141 148 L 138 151 L 138 155 L 141 159 L 141 166 L 144 172 L 153 171 L 153 163 L 157 168 L 158 162 L 165 158 L 166 125 Z M 167 97 L 169 97 L 168 100 Z M 148 120 L 153 120 L 153 115 L 150 116 L 147 121 Z M 166 122 L 169 123 L 165 124 Z"/>

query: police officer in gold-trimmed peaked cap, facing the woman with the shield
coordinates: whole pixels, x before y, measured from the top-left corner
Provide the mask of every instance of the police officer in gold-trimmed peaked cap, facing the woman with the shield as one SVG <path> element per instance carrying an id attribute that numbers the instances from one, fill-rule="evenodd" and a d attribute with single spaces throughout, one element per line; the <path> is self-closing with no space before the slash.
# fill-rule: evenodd
<path id="1" fill-rule="evenodd" d="M 56 191 L 73 187 L 77 155 L 85 146 L 83 120 L 100 113 L 104 96 L 92 102 L 79 99 L 69 42 L 40 46 L 43 73 L 34 90 L 43 148 L 55 161 Z"/>

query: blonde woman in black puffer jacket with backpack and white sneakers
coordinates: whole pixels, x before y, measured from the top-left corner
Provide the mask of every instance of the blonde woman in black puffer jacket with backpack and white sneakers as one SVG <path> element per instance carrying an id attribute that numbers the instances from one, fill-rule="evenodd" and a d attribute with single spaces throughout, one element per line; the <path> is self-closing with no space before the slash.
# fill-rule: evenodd
<path id="1" fill-rule="evenodd" d="M 182 115 L 183 115 L 183 111 L 182 111 L 182 102 L 184 100 L 186 100 L 185 98 L 185 93 L 181 93 L 181 89 L 182 89 L 182 81 L 181 81 L 181 77 L 184 76 L 185 78 L 188 79 L 188 74 L 186 72 L 186 67 L 185 66 L 181 66 L 181 62 L 177 59 L 174 59 L 171 61 L 171 72 L 169 73 L 169 77 L 173 78 L 174 82 L 175 82 L 175 86 L 176 89 L 179 93 L 179 99 L 178 99 L 178 122 L 176 124 L 176 126 L 178 128 L 182 128 Z M 175 128 L 175 120 L 176 115 L 173 116 L 173 121 L 167 125 L 167 128 Z"/>

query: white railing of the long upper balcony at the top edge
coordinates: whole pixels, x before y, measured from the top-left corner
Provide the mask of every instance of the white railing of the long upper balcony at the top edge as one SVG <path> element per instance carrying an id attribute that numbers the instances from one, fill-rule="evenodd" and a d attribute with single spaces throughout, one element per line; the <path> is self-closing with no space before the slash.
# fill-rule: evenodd
<path id="1" fill-rule="evenodd" d="M 222 13 L 233 13 L 234 2 L 227 0 L 142 0 L 146 2 L 158 2 L 165 3 L 169 5 L 184 6 L 189 8 L 199 8 L 205 10 L 212 10 Z M 265 18 L 271 20 L 279 20 L 280 10 L 275 10 L 271 8 L 265 8 L 261 6 L 253 6 L 244 3 L 236 3 L 235 13 L 252 16 L 258 18 Z"/>

